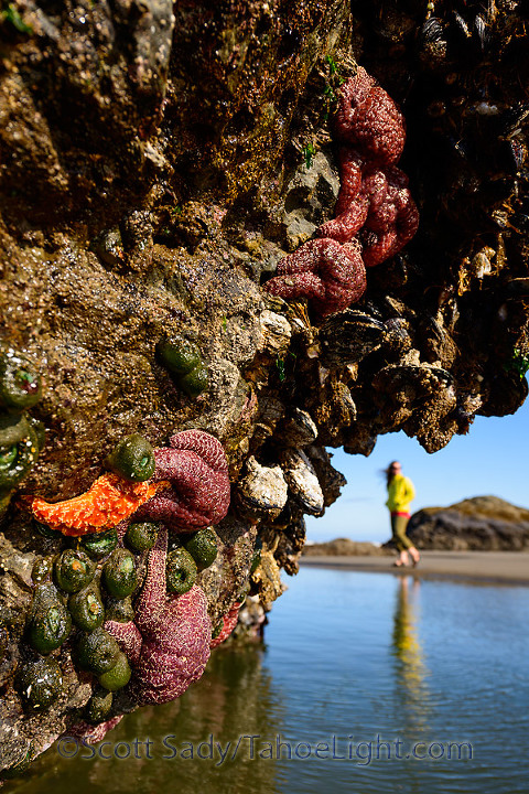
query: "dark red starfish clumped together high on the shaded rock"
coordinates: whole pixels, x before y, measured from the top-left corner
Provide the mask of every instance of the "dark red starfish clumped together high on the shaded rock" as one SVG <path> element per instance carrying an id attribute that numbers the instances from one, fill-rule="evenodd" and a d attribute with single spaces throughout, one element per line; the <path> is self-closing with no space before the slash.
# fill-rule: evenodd
<path id="1" fill-rule="evenodd" d="M 284 257 L 264 286 L 273 296 L 309 299 L 319 318 L 356 302 L 366 267 L 395 256 L 419 225 L 408 178 L 396 167 L 406 138 L 402 114 L 361 66 L 342 86 L 334 132 L 341 172 L 335 217 L 317 229 L 319 239 Z"/>

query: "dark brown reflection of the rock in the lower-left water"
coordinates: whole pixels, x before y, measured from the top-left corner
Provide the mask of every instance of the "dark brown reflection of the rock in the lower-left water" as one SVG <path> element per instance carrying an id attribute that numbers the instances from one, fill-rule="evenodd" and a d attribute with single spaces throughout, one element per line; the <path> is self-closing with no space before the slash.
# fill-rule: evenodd
<path id="1" fill-rule="evenodd" d="M 53 787 L 54 794 L 151 794 L 174 791 L 177 782 L 179 794 L 273 794 L 279 790 L 276 763 L 250 759 L 249 740 L 242 738 L 231 760 L 239 738 L 282 729 L 282 706 L 272 694 L 262 655 L 255 646 L 219 648 L 201 682 L 179 700 L 126 716 L 107 734 L 110 744 L 96 745 L 104 754 L 116 749 L 121 760 L 90 758 L 91 749 L 64 759 L 55 745 L 25 779 L 9 783 L 2 793 L 48 794 Z M 223 753 L 227 750 L 224 761 L 217 742 Z"/>

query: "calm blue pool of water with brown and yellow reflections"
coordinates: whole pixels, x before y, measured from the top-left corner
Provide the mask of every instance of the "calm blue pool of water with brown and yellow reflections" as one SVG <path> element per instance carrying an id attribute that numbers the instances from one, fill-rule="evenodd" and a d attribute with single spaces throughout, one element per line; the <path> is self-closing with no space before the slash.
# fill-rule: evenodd
<path id="1" fill-rule="evenodd" d="M 289 584 L 264 650 L 219 648 L 98 748 L 129 758 L 55 747 L 3 791 L 527 794 L 529 589 L 323 568 Z"/>

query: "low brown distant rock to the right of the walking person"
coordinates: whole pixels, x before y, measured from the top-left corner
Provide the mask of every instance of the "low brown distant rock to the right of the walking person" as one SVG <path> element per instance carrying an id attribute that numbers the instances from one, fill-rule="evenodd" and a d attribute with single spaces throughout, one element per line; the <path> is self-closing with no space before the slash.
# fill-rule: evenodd
<path id="1" fill-rule="evenodd" d="M 450 507 L 418 511 L 408 535 L 421 549 L 529 550 L 529 509 L 497 496 L 475 496 Z"/>

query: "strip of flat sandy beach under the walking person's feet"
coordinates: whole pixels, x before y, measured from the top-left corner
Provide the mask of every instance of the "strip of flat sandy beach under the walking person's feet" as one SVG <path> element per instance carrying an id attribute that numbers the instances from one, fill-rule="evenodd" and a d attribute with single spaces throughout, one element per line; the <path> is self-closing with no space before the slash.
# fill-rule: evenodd
<path id="1" fill-rule="evenodd" d="M 320 566 L 356 571 L 412 573 L 422 579 L 458 579 L 503 584 L 529 584 L 529 552 L 421 551 L 417 568 L 395 568 L 393 557 L 302 557 L 302 567 Z"/>

